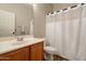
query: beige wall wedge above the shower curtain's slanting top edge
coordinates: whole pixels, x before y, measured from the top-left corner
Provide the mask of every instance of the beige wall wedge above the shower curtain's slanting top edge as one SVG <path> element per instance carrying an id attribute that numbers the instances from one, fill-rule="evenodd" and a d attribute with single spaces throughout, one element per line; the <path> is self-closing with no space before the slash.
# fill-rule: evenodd
<path id="1" fill-rule="evenodd" d="M 77 3 L 54 3 L 53 4 L 53 11 L 66 9 L 69 7 L 75 5 L 75 4 L 77 4 Z"/>

